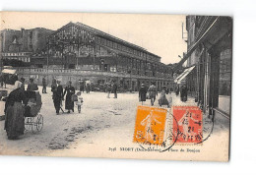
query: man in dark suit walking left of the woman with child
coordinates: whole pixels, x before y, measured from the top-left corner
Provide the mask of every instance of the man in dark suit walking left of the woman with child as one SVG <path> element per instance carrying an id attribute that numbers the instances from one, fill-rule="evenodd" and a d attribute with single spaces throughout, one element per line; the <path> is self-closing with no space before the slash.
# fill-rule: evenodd
<path id="1" fill-rule="evenodd" d="M 54 107 L 56 110 L 56 114 L 59 115 L 59 110 L 61 108 L 60 104 L 61 104 L 62 97 L 63 97 L 63 88 L 60 85 L 59 80 L 56 83 L 52 84 L 51 91 L 53 92 L 52 99 L 53 99 Z"/>

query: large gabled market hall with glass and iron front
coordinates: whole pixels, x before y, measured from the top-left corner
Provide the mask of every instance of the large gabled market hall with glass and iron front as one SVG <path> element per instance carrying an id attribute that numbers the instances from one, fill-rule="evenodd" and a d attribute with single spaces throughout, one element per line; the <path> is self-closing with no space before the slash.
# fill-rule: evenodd
<path id="1" fill-rule="evenodd" d="M 152 82 L 159 90 L 172 87 L 172 68 L 161 63 L 160 56 L 98 29 L 69 23 L 45 39 L 44 49 L 32 53 L 30 68 L 18 69 L 37 83 L 47 76 L 48 85 L 55 77 L 77 87 L 80 79 L 97 86 L 114 80 L 123 90 L 138 90 L 142 83 Z"/>

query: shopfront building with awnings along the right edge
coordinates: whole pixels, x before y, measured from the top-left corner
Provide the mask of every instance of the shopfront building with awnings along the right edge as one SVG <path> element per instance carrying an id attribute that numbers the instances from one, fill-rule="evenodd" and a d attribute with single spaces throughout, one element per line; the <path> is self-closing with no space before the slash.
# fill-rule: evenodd
<path id="1" fill-rule="evenodd" d="M 190 95 L 209 115 L 230 114 L 232 19 L 229 17 L 187 16 L 187 61 L 192 68 L 186 77 Z"/>

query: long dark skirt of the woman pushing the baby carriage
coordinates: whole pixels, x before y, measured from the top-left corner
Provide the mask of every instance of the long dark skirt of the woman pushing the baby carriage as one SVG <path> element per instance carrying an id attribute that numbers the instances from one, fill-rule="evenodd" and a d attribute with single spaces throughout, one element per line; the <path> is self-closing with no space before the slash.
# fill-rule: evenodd
<path id="1" fill-rule="evenodd" d="M 24 135 L 25 122 L 24 122 L 25 109 L 21 102 L 15 102 L 13 106 L 8 106 L 5 119 L 5 130 L 8 139 L 13 140 L 20 135 Z"/>

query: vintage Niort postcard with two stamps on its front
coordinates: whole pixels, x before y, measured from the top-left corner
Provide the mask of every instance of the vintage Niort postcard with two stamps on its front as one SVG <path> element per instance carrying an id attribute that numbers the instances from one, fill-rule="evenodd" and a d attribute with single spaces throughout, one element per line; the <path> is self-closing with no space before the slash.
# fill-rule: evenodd
<path id="1" fill-rule="evenodd" d="M 1 155 L 228 161 L 231 17 L 0 20 Z"/>

